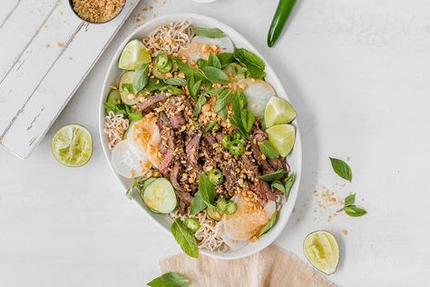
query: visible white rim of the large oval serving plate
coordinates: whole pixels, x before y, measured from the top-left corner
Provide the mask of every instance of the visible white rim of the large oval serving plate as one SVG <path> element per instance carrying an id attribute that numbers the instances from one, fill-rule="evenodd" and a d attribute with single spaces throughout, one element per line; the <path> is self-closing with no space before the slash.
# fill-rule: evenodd
<path id="1" fill-rule="evenodd" d="M 123 73 L 122 70 L 118 68 L 118 60 L 120 58 L 120 54 L 124 46 L 130 42 L 132 39 L 142 39 L 145 35 L 149 35 L 153 29 L 158 27 L 159 25 L 170 23 L 172 21 L 181 21 L 186 18 L 191 18 L 191 21 L 194 25 L 200 25 L 205 27 L 217 27 L 220 28 L 226 35 L 230 36 L 231 41 L 237 47 L 244 47 L 249 51 L 252 51 L 255 54 L 258 54 L 261 58 L 263 58 L 259 52 L 251 45 L 248 40 L 246 40 L 242 35 L 239 35 L 238 32 L 230 28 L 230 26 L 221 23 L 218 20 L 210 18 L 204 15 L 196 15 L 196 14 L 171 14 L 171 15 L 162 15 L 153 19 L 144 25 L 140 26 L 136 29 L 131 35 L 129 35 L 123 42 L 122 45 L 118 47 L 118 50 L 114 54 L 112 58 L 112 62 L 109 65 L 106 76 L 104 78 L 102 94 L 100 97 L 100 106 L 99 106 L 99 133 L 100 138 L 102 140 L 103 152 L 106 156 L 106 159 L 111 167 L 112 173 L 115 175 L 117 180 L 122 184 L 121 193 L 125 193 L 125 191 L 132 186 L 132 180 L 123 178 L 121 175 L 115 173 L 111 164 L 111 151 L 108 148 L 108 142 L 106 139 L 106 135 L 103 134 L 103 124 L 104 124 L 104 108 L 103 102 L 106 101 L 107 94 L 110 91 L 111 84 L 115 84 L 118 81 L 119 76 Z M 264 60 L 264 58 L 263 58 Z M 266 81 L 273 86 L 279 97 L 288 100 L 287 93 L 285 92 L 282 84 L 279 81 L 277 75 L 273 72 L 272 68 L 269 64 L 266 63 Z M 294 104 L 294 103 L 293 103 Z M 258 242 L 249 242 L 247 246 L 239 250 L 230 250 L 224 253 L 218 252 L 210 252 L 209 250 L 200 250 L 200 253 L 208 255 L 210 257 L 218 258 L 218 259 L 238 259 L 242 257 L 246 257 L 252 255 L 260 250 L 269 246 L 271 242 L 274 242 L 275 239 L 279 236 L 280 233 L 284 230 L 289 216 L 292 213 L 294 204 L 296 203 L 298 197 L 298 184 L 300 183 L 300 175 L 301 175 L 301 143 L 300 143 L 300 134 L 298 132 L 298 123 L 295 120 L 292 124 L 296 126 L 296 143 L 294 145 L 294 149 L 292 153 L 288 155 L 288 164 L 293 173 L 297 174 L 296 183 L 291 188 L 289 193 L 288 202 L 284 203 L 280 213 L 278 223 L 269 231 L 269 233 L 264 234 L 259 238 Z M 163 229 L 166 233 L 169 233 L 167 236 L 171 236 L 170 226 L 171 226 L 171 218 L 169 218 L 166 214 L 156 214 L 151 213 L 151 211 L 146 207 L 146 205 L 142 202 L 142 199 L 139 195 L 135 194 L 133 199 L 136 203 L 141 205 L 144 212 L 150 216 L 155 223 L 157 223 L 161 229 Z"/>

